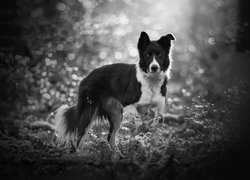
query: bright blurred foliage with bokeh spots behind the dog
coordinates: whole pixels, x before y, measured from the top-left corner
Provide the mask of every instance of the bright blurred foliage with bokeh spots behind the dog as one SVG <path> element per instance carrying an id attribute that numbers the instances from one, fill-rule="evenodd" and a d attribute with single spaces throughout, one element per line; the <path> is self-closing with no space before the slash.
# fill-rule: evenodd
<path id="1" fill-rule="evenodd" d="M 168 32 L 176 36 L 170 93 L 208 95 L 214 91 L 211 67 L 234 49 L 239 28 L 237 2 L 226 0 L 25 0 L 17 7 L 32 58 L 13 54 L 4 74 L 22 89 L 14 93 L 22 99 L 21 114 L 74 104 L 77 86 L 89 71 L 137 62 L 142 30 L 152 39 Z"/>

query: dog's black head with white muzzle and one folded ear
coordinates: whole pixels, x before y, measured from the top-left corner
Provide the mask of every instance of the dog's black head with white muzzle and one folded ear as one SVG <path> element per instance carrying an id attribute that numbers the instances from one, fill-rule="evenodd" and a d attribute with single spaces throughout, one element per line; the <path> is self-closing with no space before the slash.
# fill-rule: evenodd
<path id="1" fill-rule="evenodd" d="M 174 36 L 167 34 L 157 41 L 151 41 L 147 33 L 141 32 L 138 41 L 139 67 L 144 73 L 153 75 L 167 71 L 172 40 L 175 40 Z"/>

